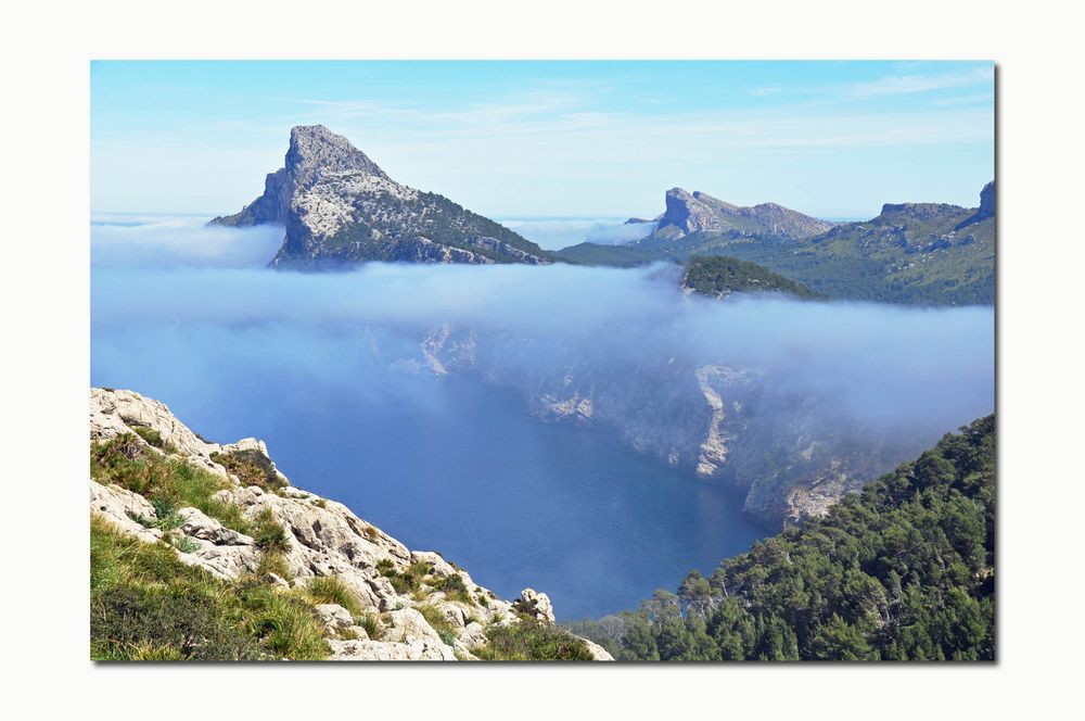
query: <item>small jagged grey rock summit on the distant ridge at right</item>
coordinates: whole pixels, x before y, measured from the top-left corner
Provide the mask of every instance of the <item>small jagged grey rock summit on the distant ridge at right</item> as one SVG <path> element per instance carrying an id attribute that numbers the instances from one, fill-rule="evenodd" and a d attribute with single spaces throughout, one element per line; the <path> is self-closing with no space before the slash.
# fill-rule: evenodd
<path id="1" fill-rule="evenodd" d="M 672 188 L 666 193 L 666 211 L 659 219 L 658 233 L 680 238 L 697 232 L 738 232 L 779 236 L 790 240 L 827 231 L 831 223 L 819 220 L 776 203 L 743 207 L 701 191 Z"/>

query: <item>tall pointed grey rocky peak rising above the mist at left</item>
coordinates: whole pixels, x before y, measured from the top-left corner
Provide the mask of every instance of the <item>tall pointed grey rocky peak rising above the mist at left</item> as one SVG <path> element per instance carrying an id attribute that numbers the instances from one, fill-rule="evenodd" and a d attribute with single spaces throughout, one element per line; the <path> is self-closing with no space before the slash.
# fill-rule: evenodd
<path id="1" fill-rule="evenodd" d="M 508 228 L 436 193 L 392 180 L 376 163 L 322 125 L 290 132 L 285 164 L 264 194 L 214 225 L 285 226 L 277 268 L 335 268 L 366 261 L 549 263 L 549 254 Z"/>

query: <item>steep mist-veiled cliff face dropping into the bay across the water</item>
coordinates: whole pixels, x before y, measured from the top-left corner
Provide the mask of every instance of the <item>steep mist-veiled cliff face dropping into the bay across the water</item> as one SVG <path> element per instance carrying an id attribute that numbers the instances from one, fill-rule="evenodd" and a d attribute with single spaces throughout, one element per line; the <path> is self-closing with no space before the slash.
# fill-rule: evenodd
<path id="1" fill-rule="evenodd" d="M 434 374 L 515 390 L 541 420 L 602 426 L 636 452 L 743 489 L 744 510 L 773 524 L 825 515 L 928 440 L 867 428 L 765 370 L 695 365 L 666 349 L 615 367 L 575 341 L 544 350 L 526 336 L 442 325 L 420 356 Z"/>

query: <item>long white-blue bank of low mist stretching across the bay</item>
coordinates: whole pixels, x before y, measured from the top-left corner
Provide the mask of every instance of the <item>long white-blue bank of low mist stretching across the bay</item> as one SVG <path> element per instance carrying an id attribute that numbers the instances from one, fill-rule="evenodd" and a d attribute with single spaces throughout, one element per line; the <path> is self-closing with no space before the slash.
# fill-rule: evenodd
<path id="1" fill-rule="evenodd" d="M 263 268 L 277 232 L 95 228 L 92 380 L 235 408 L 266 407 L 269 393 L 304 403 L 307 388 L 424 405 L 420 344 L 447 327 L 462 343 L 447 357 L 474 354 L 483 378 L 514 383 L 569 374 L 650 403 L 669 391 L 640 388 L 646 377 L 723 365 L 764 378 L 774 407 L 813 399 L 826 419 L 917 443 L 993 408 L 988 307 L 718 302 L 680 292 L 665 266 L 277 273 Z"/>

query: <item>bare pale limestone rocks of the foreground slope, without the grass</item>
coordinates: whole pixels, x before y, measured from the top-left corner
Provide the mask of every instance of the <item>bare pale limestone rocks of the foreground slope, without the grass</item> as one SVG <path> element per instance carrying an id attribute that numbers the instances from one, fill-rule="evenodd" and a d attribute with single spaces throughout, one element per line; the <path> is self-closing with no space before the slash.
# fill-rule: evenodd
<path id="1" fill-rule="evenodd" d="M 525 618 L 554 623 L 546 594 L 525 589 L 520 599 L 502 600 L 439 554 L 411 551 L 343 504 L 290 485 L 261 441 L 210 443 L 157 401 L 131 391 L 92 389 L 91 441 L 118 437 L 138 444 L 136 453 L 162 454 L 220 477 L 224 489 L 214 495 L 216 503 L 235 506 L 244 519 L 270 519 L 285 531 L 281 541 L 285 573 L 265 572 L 264 583 L 289 593 L 317 579 L 334 578 L 349 587 L 360 610 L 379 619 L 382 633 L 370 637 L 358 615 L 341 605 L 318 605 L 332 660 L 470 660 L 489 643 L 487 629 L 523 623 Z M 237 457 L 256 459 L 260 473 L 278 483 L 244 484 L 228 469 L 232 468 L 228 459 Z M 168 540 L 182 562 L 218 579 L 251 578 L 260 569 L 257 540 L 194 507 L 176 509 L 176 528 L 164 530 L 154 522 L 155 506 L 148 498 L 92 479 L 90 510 L 140 541 Z M 396 578 L 420 572 L 424 583 L 410 592 L 397 591 Z M 435 590 L 439 587 L 456 591 Z M 439 629 L 434 628 L 435 611 L 443 619 L 436 624 Z M 601 647 L 585 643 L 596 660 L 611 660 Z"/>

